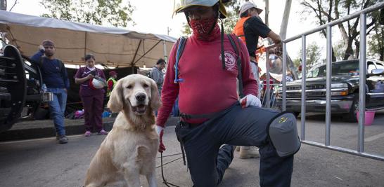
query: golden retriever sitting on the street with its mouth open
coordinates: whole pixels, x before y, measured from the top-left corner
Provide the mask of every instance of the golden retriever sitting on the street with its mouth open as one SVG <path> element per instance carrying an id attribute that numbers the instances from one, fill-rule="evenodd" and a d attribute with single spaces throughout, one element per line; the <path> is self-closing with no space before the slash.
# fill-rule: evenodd
<path id="1" fill-rule="evenodd" d="M 157 186 L 155 158 L 159 139 L 153 111 L 159 106 L 158 87 L 151 78 L 132 74 L 117 81 L 108 108 L 120 113 L 91 160 L 86 187 L 117 181 L 136 187 L 140 186 L 140 174 L 146 176 L 149 186 Z"/>

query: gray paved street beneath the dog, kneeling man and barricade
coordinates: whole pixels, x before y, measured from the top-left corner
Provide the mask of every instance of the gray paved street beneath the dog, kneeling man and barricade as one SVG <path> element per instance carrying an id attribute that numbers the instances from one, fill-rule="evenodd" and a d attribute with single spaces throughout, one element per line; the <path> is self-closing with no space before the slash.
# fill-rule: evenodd
<path id="1" fill-rule="evenodd" d="M 324 143 L 324 116 L 307 118 L 307 140 Z M 371 126 L 365 128 L 365 151 L 384 155 L 384 112 L 376 113 Z M 300 118 L 297 122 L 300 129 Z M 357 148 L 357 123 L 343 123 L 332 118 L 331 145 Z M 70 136 L 68 144 L 56 144 L 56 139 L 32 139 L 0 143 L 0 186 L 82 186 L 89 162 L 105 136 Z M 169 162 L 180 158 L 179 144 L 174 127 L 165 133 L 167 151 L 164 158 Z M 220 186 L 258 186 L 259 159 L 235 159 L 227 170 Z M 157 159 L 160 165 L 160 158 Z M 164 167 L 167 181 L 178 186 L 192 186 L 182 160 Z M 159 186 L 162 184 L 160 167 L 157 169 Z M 142 186 L 147 186 L 144 177 Z M 292 186 L 384 186 L 384 162 L 338 153 L 302 144 L 295 155 Z"/>

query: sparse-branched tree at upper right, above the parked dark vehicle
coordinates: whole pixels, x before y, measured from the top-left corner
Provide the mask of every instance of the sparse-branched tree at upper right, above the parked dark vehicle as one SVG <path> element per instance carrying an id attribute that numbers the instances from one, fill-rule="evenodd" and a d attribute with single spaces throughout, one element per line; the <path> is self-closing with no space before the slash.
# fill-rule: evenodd
<path id="1" fill-rule="evenodd" d="M 314 15 L 316 22 L 319 25 L 324 25 L 326 22 L 338 20 L 350 13 L 362 10 L 382 0 L 302 0 L 301 4 L 305 7 L 303 13 Z M 377 21 L 378 13 L 371 13 L 367 16 L 367 34 L 375 29 L 375 22 Z M 359 54 L 359 18 L 354 20 L 348 20 L 347 22 L 340 23 L 338 26 L 340 33 L 343 37 L 343 43 L 345 45 L 345 53 L 343 60 L 347 60 L 350 57 L 358 58 Z M 326 32 L 321 32 L 326 37 Z M 352 46 L 354 44 L 354 46 Z M 354 47 L 354 48 L 353 48 Z M 333 54 L 333 60 L 335 60 Z"/>

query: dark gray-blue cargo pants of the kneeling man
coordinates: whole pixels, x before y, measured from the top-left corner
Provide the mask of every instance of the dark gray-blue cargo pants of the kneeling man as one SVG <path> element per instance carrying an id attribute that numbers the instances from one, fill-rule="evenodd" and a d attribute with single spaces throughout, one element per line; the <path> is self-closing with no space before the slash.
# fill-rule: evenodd
<path id="1" fill-rule="evenodd" d="M 280 158 L 267 138 L 269 120 L 278 113 L 256 106 L 242 109 L 236 103 L 205 123 L 177 125 L 193 185 L 217 186 L 233 159 L 234 146 L 229 145 L 236 145 L 260 148 L 260 186 L 290 186 L 293 155 Z"/>

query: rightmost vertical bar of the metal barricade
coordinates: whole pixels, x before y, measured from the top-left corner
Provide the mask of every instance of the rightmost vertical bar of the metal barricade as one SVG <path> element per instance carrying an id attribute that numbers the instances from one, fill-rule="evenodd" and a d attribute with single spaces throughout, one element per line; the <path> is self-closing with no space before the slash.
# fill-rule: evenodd
<path id="1" fill-rule="evenodd" d="M 366 14 L 360 15 L 360 63 L 359 63 L 359 153 L 364 152 L 364 121 L 366 96 Z"/>

